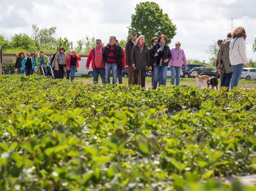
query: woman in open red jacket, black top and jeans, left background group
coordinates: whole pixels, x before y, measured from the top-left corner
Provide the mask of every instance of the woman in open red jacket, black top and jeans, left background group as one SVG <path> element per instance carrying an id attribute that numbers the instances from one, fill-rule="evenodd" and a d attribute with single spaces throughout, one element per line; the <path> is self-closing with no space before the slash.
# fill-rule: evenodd
<path id="1" fill-rule="evenodd" d="M 81 57 L 77 55 L 77 52 L 75 50 L 71 50 L 71 54 L 67 60 L 67 70 L 70 70 L 71 82 L 73 82 L 75 79 L 76 70 L 79 67 L 78 61 L 80 60 Z"/>

